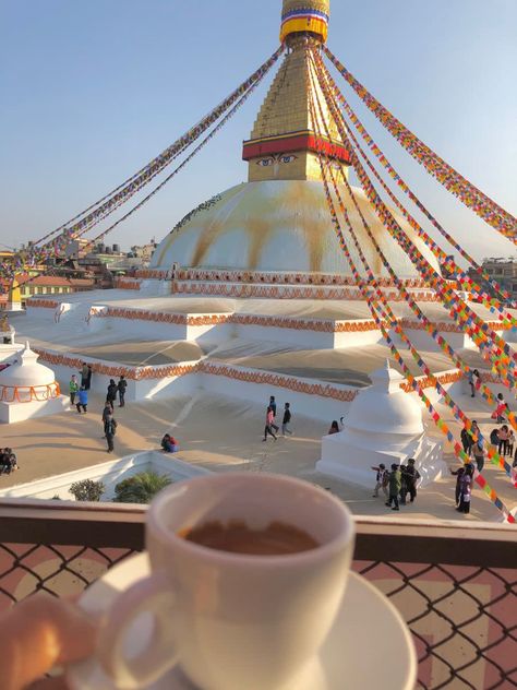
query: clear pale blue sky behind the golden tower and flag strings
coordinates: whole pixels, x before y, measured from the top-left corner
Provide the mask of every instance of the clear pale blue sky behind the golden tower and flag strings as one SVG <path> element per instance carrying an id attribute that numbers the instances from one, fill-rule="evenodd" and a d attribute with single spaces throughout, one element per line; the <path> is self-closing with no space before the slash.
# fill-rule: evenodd
<path id="1" fill-rule="evenodd" d="M 0 0 L 0 242 L 36 239 L 178 139 L 278 45 L 280 0 Z M 405 124 L 517 213 L 517 0 L 333 0 L 328 45 Z M 515 247 L 350 103 L 476 257 Z M 266 84 L 110 241 L 161 239 L 247 177 Z M 117 217 L 117 216 L 115 216 Z"/>

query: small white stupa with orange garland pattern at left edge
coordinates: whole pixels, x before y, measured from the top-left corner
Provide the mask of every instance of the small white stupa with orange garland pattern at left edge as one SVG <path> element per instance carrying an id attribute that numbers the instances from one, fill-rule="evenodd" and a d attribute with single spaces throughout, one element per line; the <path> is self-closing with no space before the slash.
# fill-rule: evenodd
<path id="1" fill-rule="evenodd" d="M 38 355 L 26 343 L 16 360 L 0 371 L 0 421 L 24 421 L 69 408 L 69 398 L 61 395 L 53 371 L 37 360 Z"/>

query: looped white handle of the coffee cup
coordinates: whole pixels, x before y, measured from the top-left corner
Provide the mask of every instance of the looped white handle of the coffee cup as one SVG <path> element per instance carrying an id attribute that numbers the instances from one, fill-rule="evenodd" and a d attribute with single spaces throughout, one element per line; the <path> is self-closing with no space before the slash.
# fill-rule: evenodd
<path id="1" fill-rule="evenodd" d="M 173 598 L 170 579 L 158 571 L 123 592 L 107 612 L 100 627 L 97 657 L 117 688 L 146 687 L 176 665 L 178 656 L 171 626 Z M 125 635 L 142 614 L 152 614 L 153 634 L 144 650 L 128 658 Z"/>

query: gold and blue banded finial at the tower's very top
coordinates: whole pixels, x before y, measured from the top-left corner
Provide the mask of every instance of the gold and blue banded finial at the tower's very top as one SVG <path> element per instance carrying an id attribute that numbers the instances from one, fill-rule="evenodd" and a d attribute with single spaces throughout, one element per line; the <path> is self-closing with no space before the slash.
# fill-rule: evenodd
<path id="1" fill-rule="evenodd" d="M 326 43 L 330 0 L 284 0 L 281 9 L 280 41 L 300 34 Z"/>

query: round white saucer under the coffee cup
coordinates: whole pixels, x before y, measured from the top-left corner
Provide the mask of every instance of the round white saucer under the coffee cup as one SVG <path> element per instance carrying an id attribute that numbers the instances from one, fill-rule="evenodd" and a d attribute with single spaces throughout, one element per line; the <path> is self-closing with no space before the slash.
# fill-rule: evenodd
<path id="1" fill-rule="evenodd" d="M 105 612 L 121 592 L 148 573 L 146 554 L 128 558 L 88 587 L 80 606 L 94 615 Z M 140 646 L 144 628 L 145 623 L 139 628 L 135 646 Z M 117 690 L 95 657 L 71 666 L 67 679 L 71 690 Z M 417 655 L 400 614 L 364 578 L 350 573 L 338 617 L 317 657 L 282 690 L 412 690 L 416 679 Z M 142 690 L 195 688 L 175 668 Z"/>

